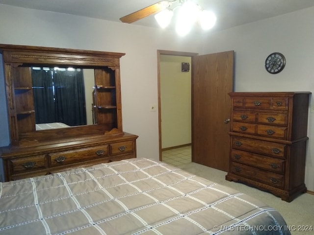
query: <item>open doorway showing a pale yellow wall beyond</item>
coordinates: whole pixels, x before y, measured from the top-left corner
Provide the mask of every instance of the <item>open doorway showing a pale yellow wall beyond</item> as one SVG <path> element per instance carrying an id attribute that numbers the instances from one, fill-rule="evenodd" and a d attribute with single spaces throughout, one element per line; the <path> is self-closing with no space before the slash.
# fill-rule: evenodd
<path id="1" fill-rule="evenodd" d="M 176 148 L 191 151 L 191 66 L 197 53 L 158 50 L 158 129 L 159 160 L 162 152 Z M 187 148 L 184 148 L 187 146 Z M 189 148 L 189 149 L 188 149 Z"/>

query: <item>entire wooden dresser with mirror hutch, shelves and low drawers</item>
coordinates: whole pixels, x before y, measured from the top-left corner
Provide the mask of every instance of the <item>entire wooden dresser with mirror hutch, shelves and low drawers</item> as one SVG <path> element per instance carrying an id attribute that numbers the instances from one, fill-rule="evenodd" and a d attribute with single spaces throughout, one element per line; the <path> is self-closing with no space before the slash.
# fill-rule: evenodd
<path id="1" fill-rule="evenodd" d="M 2 180 L 136 158 L 137 136 L 122 128 L 124 53 L 18 45 L 0 52 L 10 131 Z"/>

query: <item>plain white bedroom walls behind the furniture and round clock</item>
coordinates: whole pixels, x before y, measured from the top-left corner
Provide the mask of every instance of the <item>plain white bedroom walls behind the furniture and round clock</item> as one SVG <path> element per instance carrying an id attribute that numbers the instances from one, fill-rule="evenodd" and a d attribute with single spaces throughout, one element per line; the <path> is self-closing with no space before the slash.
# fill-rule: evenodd
<path id="1" fill-rule="evenodd" d="M 138 157 L 158 159 L 158 114 L 149 111 L 150 104 L 157 103 L 157 49 L 199 54 L 235 50 L 236 92 L 314 92 L 314 7 L 207 36 L 185 38 L 161 29 L 3 4 L 0 22 L 0 44 L 125 52 L 121 58 L 123 129 L 139 136 Z M 286 56 L 287 65 L 281 73 L 271 75 L 263 64 L 274 51 Z M 313 95 L 311 104 L 314 105 Z M 4 108 L 1 105 L 0 112 Z M 5 122 L 1 120 L 0 129 L 7 128 Z M 313 113 L 309 114 L 308 136 L 309 143 L 313 142 Z M 5 138 L 1 140 L 5 142 Z M 311 144 L 306 157 L 305 182 L 314 191 Z"/>

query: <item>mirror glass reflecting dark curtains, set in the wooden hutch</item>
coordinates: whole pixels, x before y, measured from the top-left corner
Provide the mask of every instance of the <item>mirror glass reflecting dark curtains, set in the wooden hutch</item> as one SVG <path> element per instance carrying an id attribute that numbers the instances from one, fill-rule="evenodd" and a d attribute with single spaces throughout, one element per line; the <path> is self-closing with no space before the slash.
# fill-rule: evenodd
<path id="1" fill-rule="evenodd" d="M 94 69 L 31 67 L 36 131 L 92 125 Z"/>

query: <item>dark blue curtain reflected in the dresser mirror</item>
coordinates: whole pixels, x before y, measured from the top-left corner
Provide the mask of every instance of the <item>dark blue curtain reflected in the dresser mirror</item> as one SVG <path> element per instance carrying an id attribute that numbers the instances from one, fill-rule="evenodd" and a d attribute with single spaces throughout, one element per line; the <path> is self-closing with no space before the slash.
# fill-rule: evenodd
<path id="1" fill-rule="evenodd" d="M 32 70 L 36 123 L 86 125 L 82 70 Z M 40 87 L 40 88 L 39 88 Z"/>

